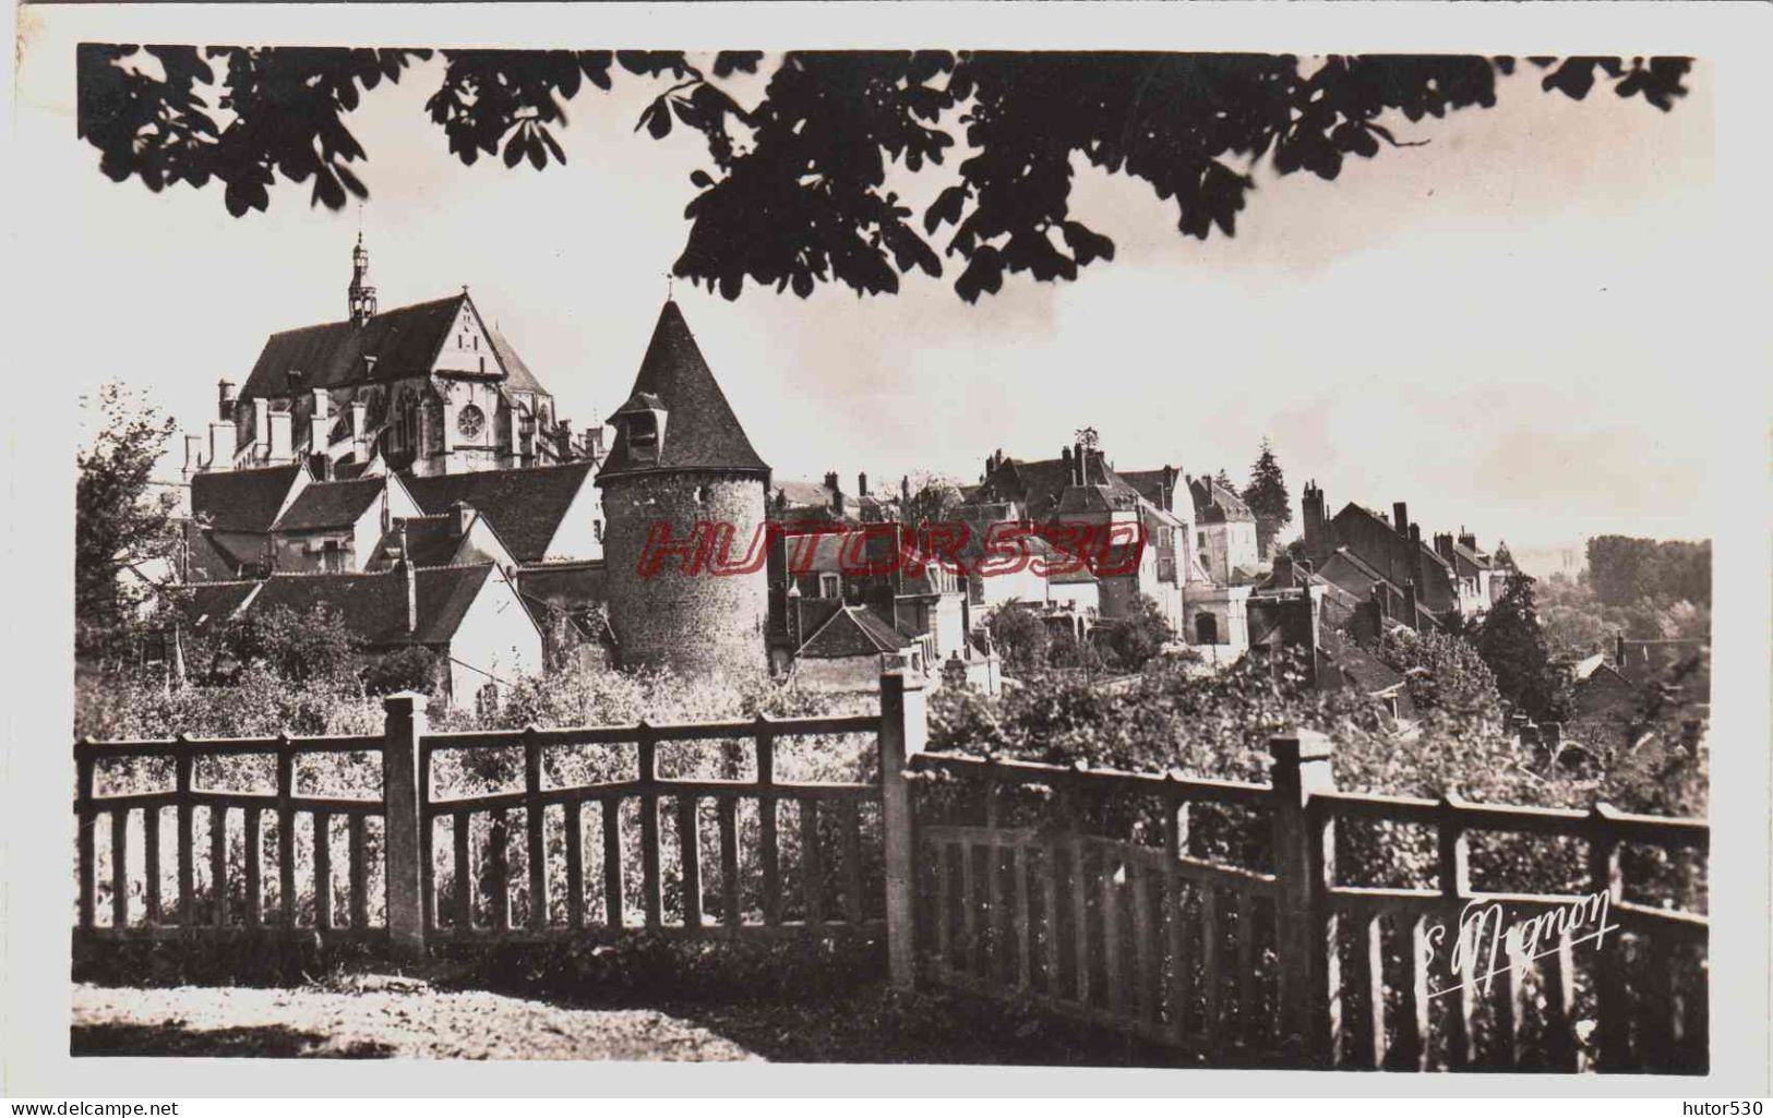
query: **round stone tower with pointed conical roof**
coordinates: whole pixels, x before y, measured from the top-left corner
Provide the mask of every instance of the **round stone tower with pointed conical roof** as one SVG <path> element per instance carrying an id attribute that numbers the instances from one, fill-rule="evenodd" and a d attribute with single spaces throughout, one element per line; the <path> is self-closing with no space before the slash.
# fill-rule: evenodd
<path id="1" fill-rule="evenodd" d="M 603 489 L 605 592 L 624 668 L 688 677 L 768 666 L 764 563 L 739 574 L 686 571 L 697 540 L 730 524 L 727 558 L 762 555 L 769 466 L 745 438 L 677 303 L 667 301 L 615 415 L 615 443 L 598 473 Z M 722 528 L 723 532 L 723 528 Z M 642 556 L 670 553 L 642 571 Z"/>

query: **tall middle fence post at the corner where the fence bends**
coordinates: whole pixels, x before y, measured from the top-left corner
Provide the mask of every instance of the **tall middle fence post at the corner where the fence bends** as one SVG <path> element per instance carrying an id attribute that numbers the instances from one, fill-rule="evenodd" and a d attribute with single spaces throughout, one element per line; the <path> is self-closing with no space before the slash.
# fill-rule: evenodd
<path id="1" fill-rule="evenodd" d="M 892 983 L 917 985 L 917 850 L 906 765 L 924 751 L 929 709 L 922 677 L 881 675 L 881 833 L 886 843 L 886 959 Z"/>

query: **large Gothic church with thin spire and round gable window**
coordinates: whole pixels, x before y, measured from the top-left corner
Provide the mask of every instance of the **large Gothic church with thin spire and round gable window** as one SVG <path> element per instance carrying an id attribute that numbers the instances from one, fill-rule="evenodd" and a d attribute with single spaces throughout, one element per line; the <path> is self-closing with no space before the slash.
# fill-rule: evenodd
<path id="1" fill-rule="evenodd" d="M 273 333 L 239 392 L 223 379 L 204 436 L 186 436 L 184 471 L 319 461 L 420 477 L 596 461 L 601 429 L 574 439 L 468 289 L 379 310 L 369 252 L 351 253 L 348 317 Z"/>

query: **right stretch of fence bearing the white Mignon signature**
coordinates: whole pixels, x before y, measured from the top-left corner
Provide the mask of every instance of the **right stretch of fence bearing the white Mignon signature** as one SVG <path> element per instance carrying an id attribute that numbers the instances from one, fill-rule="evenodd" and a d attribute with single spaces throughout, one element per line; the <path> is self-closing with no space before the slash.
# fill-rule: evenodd
<path id="1" fill-rule="evenodd" d="M 1621 872 L 1628 845 L 1706 852 L 1704 822 L 1351 796 L 1323 735 L 1271 753 L 1269 785 L 915 757 L 924 974 L 1215 1065 L 1706 1070 L 1707 920 L 1628 902 Z M 1425 829 L 1438 888 L 1340 881 L 1340 819 Z M 1480 833 L 1583 843 L 1592 893 L 1473 889 Z M 1596 897 L 1610 934 L 1507 951 Z M 1505 944 L 1495 973 L 1449 966 L 1466 927 Z"/>

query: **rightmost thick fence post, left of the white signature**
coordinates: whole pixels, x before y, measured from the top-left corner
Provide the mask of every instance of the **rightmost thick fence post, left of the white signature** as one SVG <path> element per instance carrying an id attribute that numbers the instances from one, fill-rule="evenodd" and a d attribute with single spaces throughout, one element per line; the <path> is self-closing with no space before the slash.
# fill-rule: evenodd
<path id="1" fill-rule="evenodd" d="M 1273 758 L 1277 955 L 1282 1042 L 1300 1038 L 1314 1063 L 1333 1060 L 1332 1013 L 1335 985 L 1335 923 L 1321 911 L 1323 889 L 1333 873 L 1333 831 L 1312 824 L 1307 803 L 1314 792 L 1333 792 L 1330 739 L 1312 730 L 1268 739 Z"/>

